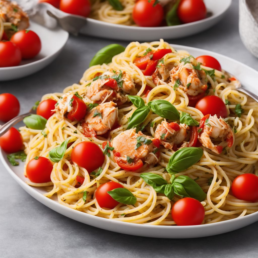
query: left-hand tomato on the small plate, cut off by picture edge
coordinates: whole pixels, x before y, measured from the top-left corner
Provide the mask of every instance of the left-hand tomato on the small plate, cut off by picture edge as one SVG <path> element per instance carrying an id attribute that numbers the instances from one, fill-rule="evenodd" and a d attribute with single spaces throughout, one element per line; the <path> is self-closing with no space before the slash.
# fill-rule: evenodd
<path id="1" fill-rule="evenodd" d="M 10 41 L 0 41 L 0 67 L 17 66 L 21 62 L 21 51 Z"/>

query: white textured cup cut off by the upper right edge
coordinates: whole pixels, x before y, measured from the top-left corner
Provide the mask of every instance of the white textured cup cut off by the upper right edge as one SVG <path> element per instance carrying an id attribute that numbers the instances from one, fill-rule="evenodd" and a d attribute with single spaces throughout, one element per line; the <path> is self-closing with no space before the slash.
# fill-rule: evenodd
<path id="1" fill-rule="evenodd" d="M 258 0 L 239 0 L 239 34 L 245 47 L 258 57 Z"/>

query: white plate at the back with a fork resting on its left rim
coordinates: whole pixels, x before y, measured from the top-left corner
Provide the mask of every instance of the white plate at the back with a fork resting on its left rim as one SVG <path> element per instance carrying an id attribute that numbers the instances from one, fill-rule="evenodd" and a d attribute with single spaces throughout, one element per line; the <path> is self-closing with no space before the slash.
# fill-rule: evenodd
<path id="1" fill-rule="evenodd" d="M 50 4 L 43 3 L 40 5 L 43 9 L 47 8 L 56 17 L 74 17 L 75 31 L 79 31 L 79 33 L 85 35 L 128 41 L 154 41 L 159 40 L 160 38 L 173 39 L 186 37 L 203 31 L 222 19 L 231 4 L 231 0 L 204 0 L 204 2 L 207 11 L 212 13 L 210 17 L 196 22 L 165 27 L 135 27 L 107 23 L 91 18 L 79 19 L 77 15 L 64 13 Z M 83 20 L 85 21 L 85 25 L 78 30 L 77 21 L 83 23 Z M 65 29 L 71 30 L 71 24 Z"/>

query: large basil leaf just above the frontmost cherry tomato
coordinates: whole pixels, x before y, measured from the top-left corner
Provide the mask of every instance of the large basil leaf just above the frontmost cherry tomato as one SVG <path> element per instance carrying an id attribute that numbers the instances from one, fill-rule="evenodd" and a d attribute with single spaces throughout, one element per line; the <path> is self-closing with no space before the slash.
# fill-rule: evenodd
<path id="1" fill-rule="evenodd" d="M 173 191 L 180 196 L 192 197 L 198 201 L 203 201 L 206 198 L 203 189 L 189 176 L 176 177 L 172 182 L 172 187 Z"/>

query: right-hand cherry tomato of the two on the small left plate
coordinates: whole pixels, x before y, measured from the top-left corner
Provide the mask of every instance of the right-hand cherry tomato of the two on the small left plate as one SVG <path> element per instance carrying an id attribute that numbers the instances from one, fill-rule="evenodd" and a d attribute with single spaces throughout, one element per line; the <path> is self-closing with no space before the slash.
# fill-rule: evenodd
<path id="1" fill-rule="evenodd" d="M 41 50 L 41 40 L 32 30 L 20 30 L 10 39 L 21 50 L 22 59 L 35 57 Z"/>

